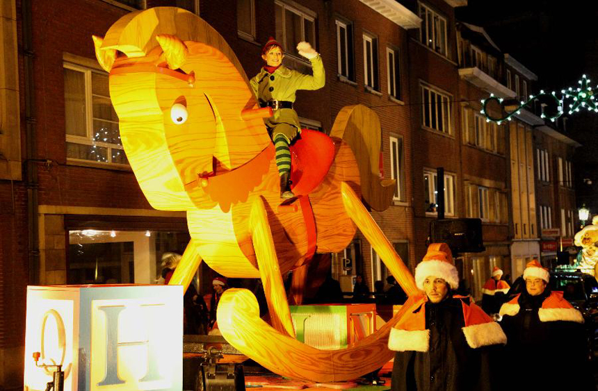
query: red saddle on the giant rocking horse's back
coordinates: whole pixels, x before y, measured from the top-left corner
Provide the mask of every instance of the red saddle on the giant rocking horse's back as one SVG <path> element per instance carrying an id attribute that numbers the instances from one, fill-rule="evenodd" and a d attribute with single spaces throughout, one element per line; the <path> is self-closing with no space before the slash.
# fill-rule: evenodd
<path id="1" fill-rule="evenodd" d="M 296 196 L 312 192 L 323 181 L 334 161 L 334 142 L 328 135 L 301 130 L 301 138 L 291 145 L 291 190 Z"/>

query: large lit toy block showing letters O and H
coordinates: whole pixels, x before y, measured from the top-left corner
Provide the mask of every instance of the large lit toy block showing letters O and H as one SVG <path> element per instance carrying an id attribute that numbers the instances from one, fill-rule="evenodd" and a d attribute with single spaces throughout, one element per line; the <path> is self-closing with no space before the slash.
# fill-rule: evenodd
<path id="1" fill-rule="evenodd" d="M 45 390 L 61 364 L 64 390 L 182 389 L 181 285 L 30 286 L 25 390 Z"/>

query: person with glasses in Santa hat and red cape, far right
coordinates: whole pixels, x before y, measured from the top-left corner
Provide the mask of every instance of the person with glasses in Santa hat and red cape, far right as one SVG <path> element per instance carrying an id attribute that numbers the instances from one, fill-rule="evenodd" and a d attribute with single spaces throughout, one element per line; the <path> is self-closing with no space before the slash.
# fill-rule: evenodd
<path id="1" fill-rule="evenodd" d="M 550 290 L 550 274 L 538 260 L 528 263 L 523 278 L 525 289 L 500 310 L 513 387 L 596 390 L 583 316 L 563 299 L 563 292 Z"/>

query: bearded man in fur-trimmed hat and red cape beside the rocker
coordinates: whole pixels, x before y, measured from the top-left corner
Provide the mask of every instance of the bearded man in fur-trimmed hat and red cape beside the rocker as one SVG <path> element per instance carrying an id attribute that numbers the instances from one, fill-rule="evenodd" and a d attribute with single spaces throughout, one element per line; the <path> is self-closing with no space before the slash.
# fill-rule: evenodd
<path id="1" fill-rule="evenodd" d="M 453 294 L 459 276 L 447 244 L 430 244 L 415 283 L 423 292 L 389 335 L 396 351 L 391 390 L 501 389 L 491 361 L 506 336 L 469 297 Z"/>

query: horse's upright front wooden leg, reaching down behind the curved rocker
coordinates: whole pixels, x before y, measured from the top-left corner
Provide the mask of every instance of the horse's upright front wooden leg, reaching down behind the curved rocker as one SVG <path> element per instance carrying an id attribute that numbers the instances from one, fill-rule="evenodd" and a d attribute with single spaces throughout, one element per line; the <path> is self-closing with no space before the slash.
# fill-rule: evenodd
<path id="1" fill-rule="evenodd" d="M 282 283 L 268 215 L 264 201 L 259 197 L 253 201 L 249 221 L 259 274 L 268 302 L 270 321 L 277 331 L 295 338 L 295 328 L 293 328 L 293 319 L 291 319 L 289 303 Z"/>

